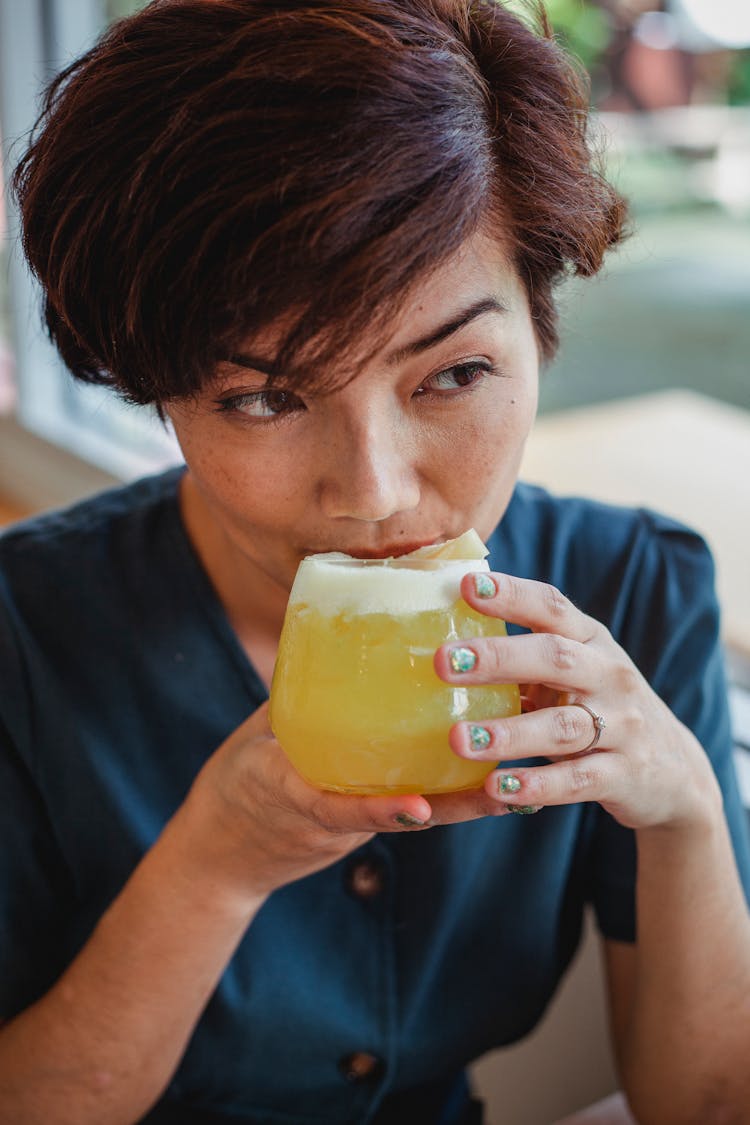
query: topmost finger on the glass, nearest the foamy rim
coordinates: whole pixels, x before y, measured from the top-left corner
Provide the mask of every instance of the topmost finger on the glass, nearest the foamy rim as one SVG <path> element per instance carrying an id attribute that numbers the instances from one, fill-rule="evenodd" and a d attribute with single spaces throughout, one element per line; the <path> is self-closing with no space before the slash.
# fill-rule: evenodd
<path id="1" fill-rule="evenodd" d="M 593 640 L 603 628 L 576 609 L 557 586 L 531 578 L 496 572 L 468 574 L 461 580 L 461 595 L 479 613 L 513 621 L 533 632 L 561 633 L 581 644 Z"/>

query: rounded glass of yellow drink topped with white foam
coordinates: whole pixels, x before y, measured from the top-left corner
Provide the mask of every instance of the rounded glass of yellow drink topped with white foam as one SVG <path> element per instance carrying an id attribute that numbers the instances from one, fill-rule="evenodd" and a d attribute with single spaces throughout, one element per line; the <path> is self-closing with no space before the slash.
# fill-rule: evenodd
<path id="1" fill-rule="evenodd" d="M 320 561 L 320 559 L 323 559 Z M 517 713 L 516 685 L 446 684 L 446 640 L 505 634 L 459 594 L 472 560 L 306 559 L 292 588 L 271 691 L 271 727 L 299 773 L 346 793 L 473 789 L 491 763 L 457 757 L 450 726 Z"/>

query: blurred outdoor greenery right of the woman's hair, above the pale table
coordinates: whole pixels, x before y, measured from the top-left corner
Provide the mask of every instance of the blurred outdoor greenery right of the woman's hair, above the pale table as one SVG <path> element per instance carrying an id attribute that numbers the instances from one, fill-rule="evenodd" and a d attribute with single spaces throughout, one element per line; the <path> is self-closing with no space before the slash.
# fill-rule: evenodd
<path id="1" fill-rule="evenodd" d="M 750 3 L 548 9 L 590 74 L 634 234 L 569 287 L 544 408 L 672 386 L 750 406 Z"/>

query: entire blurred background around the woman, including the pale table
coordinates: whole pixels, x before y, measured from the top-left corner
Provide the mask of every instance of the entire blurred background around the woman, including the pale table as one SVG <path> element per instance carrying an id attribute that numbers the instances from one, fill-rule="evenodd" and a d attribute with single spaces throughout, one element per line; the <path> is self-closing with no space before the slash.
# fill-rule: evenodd
<path id="1" fill-rule="evenodd" d="M 0 0 L 3 179 L 44 83 L 138 7 Z M 524 472 L 558 492 L 647 503 L 707 537 L 750 808 L 750 0 L 546 7 L 590 74 L 597 141 L 631 199 L 633 234 L 599 278 L 566 284 L 562 348 L 543 377 Z M 40 328 L 6 198 L 0 523 L 178 457 L 147 412 L 65 375 Z M 596 957 L 589 935 L 542 1028 L 476 1068 L 491 1122 L 549 1125 L 615 1088 Z"/>

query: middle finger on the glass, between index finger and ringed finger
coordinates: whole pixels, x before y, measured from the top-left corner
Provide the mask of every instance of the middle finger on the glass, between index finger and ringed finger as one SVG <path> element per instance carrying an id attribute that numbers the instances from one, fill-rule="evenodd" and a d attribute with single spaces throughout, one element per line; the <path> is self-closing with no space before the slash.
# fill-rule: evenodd
<path id="1" fill-rule="evenodd" d="M 532 681 L 555 691 L 591 695 L 600 685 L 602 652 L 555 633 L 473 637 L 435 652 L 434 667 L 448 683 L 517 684 Z"/>

